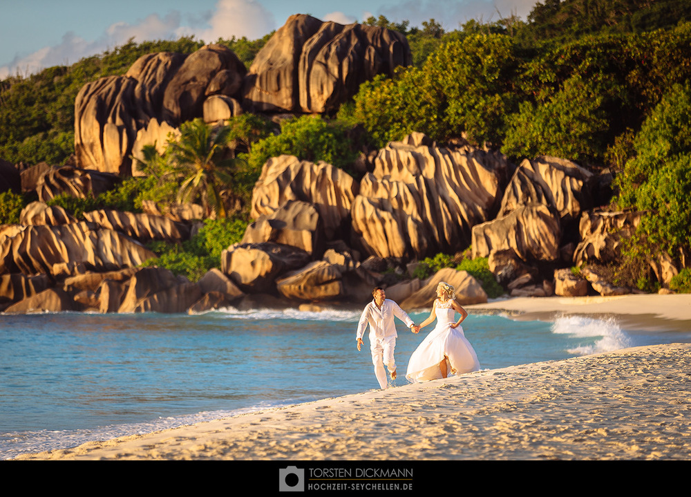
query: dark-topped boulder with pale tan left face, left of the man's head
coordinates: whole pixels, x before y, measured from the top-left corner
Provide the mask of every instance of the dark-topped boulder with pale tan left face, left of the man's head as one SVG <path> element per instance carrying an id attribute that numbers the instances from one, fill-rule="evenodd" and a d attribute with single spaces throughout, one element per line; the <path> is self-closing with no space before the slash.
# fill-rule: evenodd
<path id="1" fill-rule="evenodd" d="M 236 243 L 220 256 L 220 269 L 245 292 L 264 293 L 275 289 L 276 276 L 302 268 L 310 261 L 304 250 L 278 243 Z"/>

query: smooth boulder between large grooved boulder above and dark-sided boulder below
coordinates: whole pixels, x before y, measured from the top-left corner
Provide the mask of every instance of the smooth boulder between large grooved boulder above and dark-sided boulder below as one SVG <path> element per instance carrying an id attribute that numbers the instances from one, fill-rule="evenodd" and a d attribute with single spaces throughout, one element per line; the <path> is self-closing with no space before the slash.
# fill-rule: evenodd
<path id="1" fill-rule="evenodd" d="M 297 247 L 314 257 L 324 251 L 323 230 L 319 212 L 312 204 L 288 200 L 271 214 L 247 226 L 242 243 L 273 242 Z"/>

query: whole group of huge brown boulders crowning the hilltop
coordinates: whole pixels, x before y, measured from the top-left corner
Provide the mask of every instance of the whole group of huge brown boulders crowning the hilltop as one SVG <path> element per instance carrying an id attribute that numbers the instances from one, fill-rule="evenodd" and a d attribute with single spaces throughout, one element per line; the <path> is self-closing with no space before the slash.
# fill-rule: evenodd
<path id="1" fill-rule="evenodd" d="M 138 174 L 131 156 L 161 147 L 171 130 L 251 111 L 321 113 L 377 74 L 412 61 L 399 32 L 291 16 L 256 55 L 250 73 L 234 52 L 143 55 L 122 76 L 87 83 L 75 100 L 75 157 L 84 169 Z M 142 131 L 144 130 L 144 131 Z"/>

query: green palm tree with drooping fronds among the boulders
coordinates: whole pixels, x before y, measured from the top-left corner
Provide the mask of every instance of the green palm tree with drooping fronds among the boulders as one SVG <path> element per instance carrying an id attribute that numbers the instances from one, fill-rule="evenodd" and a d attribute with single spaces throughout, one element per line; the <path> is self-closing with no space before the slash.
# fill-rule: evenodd
<path id="1" fill-rule="evenodd" d="M 173 174 L 184 178 L 178 190 L 178 202 L 200 196 L 207 214 L 227 216 L 220 191 L 229 184 L 236 159 L 228 157 L 229 126 L 211 127 L 197 118 L 180 126 L 180 138 L 169 142 Z"/>

